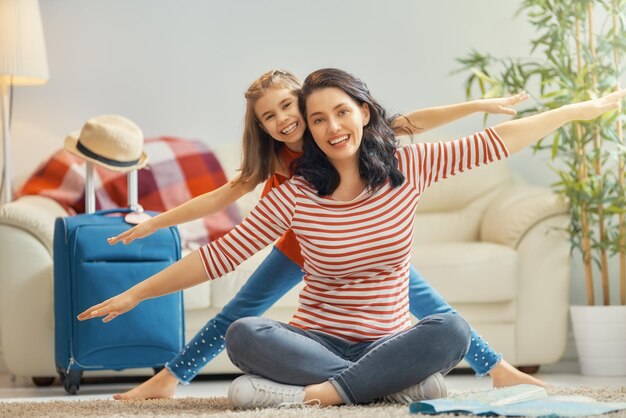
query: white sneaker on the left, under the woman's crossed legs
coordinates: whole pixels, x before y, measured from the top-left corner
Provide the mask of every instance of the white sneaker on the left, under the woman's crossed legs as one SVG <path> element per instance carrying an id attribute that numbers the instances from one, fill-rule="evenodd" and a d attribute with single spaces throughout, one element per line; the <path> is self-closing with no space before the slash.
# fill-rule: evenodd
<path id="1" fill-rule="evenodd" d="M 233 380 L 228 400 L 235 408 L 271 408 L 304 403 L 304 387 L 246 374 Z"/>

